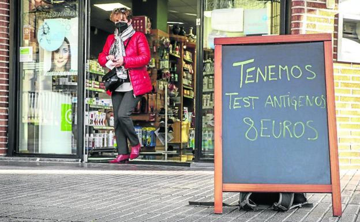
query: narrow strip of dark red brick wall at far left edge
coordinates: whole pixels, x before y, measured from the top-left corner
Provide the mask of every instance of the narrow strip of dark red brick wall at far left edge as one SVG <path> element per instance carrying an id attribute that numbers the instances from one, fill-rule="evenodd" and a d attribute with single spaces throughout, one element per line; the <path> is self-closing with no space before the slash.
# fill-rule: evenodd
<path id="1" fill-rule="evenodd" d="M 8 147 L 10 0 L 0 0 L 0 156 Z"/>

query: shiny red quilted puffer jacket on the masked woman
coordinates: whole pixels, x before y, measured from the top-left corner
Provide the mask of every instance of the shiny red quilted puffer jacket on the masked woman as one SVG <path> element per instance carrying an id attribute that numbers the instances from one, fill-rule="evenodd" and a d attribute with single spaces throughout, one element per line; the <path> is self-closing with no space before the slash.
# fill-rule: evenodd
<path id="1" fill-rule="evenodd" d="M 107 63 L 106 56 L 109 55 L 109 50 L 114 41 L 114 34 L 109 35 L 103 51 L 99 54 L 98 61 L 103 67 L 105 67 Z M 125 40 L 124 45 L 127 44 L 127 41 L 129 41 L 129 38 Z M 150 48 L 144 33 L 135 32 L 134 35 L 132 35 L 125 53 L 124 67 L 129 69 L 134 95 L 138 96 L 150 92 L 153 86 L 146 68 L 146 65 L 150 61 Z"/>

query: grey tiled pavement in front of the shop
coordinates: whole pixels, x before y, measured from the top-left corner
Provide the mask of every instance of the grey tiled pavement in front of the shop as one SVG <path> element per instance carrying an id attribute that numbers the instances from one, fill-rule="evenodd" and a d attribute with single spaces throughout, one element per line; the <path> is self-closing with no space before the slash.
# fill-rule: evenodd
<path id="1" fill-rule="evenodd" d="M 360 172 L 341 171 L 343 216 L 331 195 L 308 194 L 313 208 L 257 212 L 195 207 L 213 201 L 213 172 L 188 167 L 0 161 L 0 222 L 360 222 Z M 237 193 L 224 193 L 235 204 Z"/>

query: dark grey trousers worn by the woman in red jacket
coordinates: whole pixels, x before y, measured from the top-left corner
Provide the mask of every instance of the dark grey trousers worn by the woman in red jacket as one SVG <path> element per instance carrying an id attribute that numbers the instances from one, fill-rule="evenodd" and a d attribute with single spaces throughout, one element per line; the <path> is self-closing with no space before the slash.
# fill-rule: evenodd
<path id="1" fill-rule="evenodd" d="M 142 96 L 140 95 L 134 98 L 133 93 L 132 90 L 128 92 L 114 91 L 111 95 L 114 108 L 115 137 L 119 154 L 129 154 L 128 139 L 131 146 L 139 144 L 139 138 L 138 135 L 136 135 L 130 115 Z"/>

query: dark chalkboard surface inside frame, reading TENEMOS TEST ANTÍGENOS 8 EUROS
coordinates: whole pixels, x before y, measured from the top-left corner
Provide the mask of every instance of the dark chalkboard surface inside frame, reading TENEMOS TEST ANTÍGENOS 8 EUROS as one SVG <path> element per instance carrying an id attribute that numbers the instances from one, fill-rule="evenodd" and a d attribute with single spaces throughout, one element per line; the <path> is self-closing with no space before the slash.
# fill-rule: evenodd
<path id="1" fill-rule="evenodd" d="M 331 184 L 323 42 L 222 46 L 224 183 Z"/>

